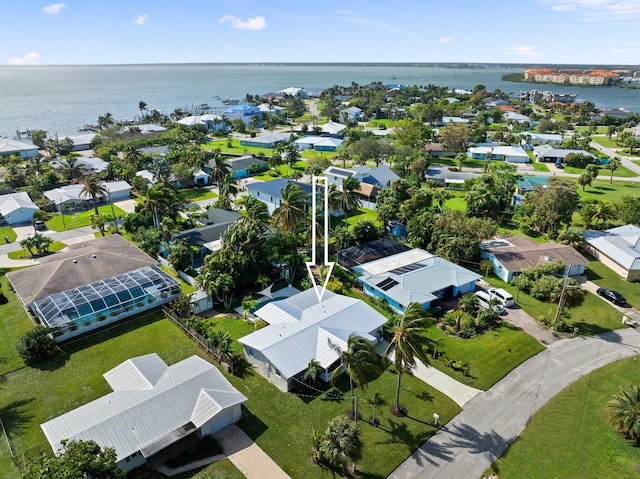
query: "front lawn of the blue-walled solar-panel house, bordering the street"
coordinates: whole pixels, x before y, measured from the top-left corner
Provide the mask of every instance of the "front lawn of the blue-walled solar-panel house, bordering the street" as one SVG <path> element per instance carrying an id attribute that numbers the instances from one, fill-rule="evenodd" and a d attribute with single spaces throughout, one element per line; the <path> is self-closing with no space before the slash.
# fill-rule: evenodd
<path id="1" fill-rule="evenodd" d="M 427 337 L 438 340 L 440 356 L 430 364 L 478 389 L 487 390 L 520 363 L 544 350 L 544 346 L 508 323 L 475 338 L 462 339 L 447 335 L 438 326 L 432 326 Z M 445 358 L 462 361 L 471 366 L 469 376 L 444 365 Z"/>

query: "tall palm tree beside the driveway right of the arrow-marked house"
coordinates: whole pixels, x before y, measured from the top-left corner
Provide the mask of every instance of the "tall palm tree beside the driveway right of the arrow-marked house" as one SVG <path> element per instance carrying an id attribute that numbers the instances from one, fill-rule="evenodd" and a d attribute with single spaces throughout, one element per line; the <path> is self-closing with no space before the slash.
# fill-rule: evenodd
<path id="1" fill-rule="evenodd" d="M 416 360 L 428 363 L 426 345 L 429 340 L 424 331 L 429 326 L 426 312 L 420 303 L 411 303 L 404 314 L 390 320 L 391 342 L 384 353 L 384 357 L 393 351 L 393 362 L 398 383 L 396 385 L 396 402 L 391 412 L 396 415 L 406 414 L 406 409 L 400 405 L 400 386 L 402 375 L 416 365 Z"/>

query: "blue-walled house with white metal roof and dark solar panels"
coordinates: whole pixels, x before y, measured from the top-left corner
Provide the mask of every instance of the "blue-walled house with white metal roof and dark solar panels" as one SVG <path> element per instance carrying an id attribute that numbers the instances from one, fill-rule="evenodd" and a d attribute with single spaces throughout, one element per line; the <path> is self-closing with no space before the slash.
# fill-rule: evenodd
<path id="1" fill-rule="evenodd" d="M 412 249 L 353 268 L 365 293 L 385 299 L 399 313 L 409 303 L 424 309 L 444 297 L 475 290 L 479 274 L 422 249 Z"/>

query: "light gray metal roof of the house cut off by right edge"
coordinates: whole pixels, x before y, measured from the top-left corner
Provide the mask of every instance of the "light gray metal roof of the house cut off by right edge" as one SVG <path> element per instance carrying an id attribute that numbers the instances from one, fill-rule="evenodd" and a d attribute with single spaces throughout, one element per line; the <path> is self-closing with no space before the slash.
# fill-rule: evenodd
<path id="1" fill-rule="evenodd" d="M 637 226 L 588 230 L 584 232 L 584 240 L 627 271 L 640 269 L 640 228 Z"/>

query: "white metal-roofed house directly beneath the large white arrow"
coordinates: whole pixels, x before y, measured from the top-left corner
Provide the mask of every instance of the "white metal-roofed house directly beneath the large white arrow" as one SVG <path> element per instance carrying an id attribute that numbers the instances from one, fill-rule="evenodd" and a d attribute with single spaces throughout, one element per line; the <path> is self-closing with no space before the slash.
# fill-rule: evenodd
<path id="1" fill-rule="evenodd" d="M 238 341 L 245 358 L 282 391 L 289 391 L 315 359 L 328 381 L 341 365 L 349 337 L 356 335 L 376 344 L 387 322 L 362 300 L 325 291 L 318 302 L 314 289 L 259 308 L 257 317 L 269 325 Z"/>

